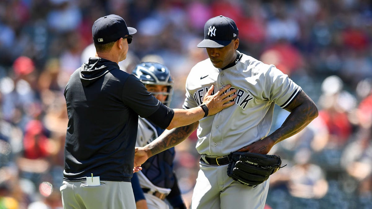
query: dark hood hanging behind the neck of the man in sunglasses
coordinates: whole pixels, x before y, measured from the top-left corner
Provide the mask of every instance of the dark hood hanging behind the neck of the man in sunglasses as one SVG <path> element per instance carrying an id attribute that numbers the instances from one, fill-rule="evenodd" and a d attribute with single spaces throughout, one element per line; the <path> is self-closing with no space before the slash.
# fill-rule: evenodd
<path id="1" fill-rule="evenodd" d="M 110 70 L 118 68 L 119 65 L 113 61 L 106 60 L 100 57 L 91 57 L 88 62 L 81 65 L 80 80 L 83 86 L 89 86 L 102 76 L 106 75 Z"/>

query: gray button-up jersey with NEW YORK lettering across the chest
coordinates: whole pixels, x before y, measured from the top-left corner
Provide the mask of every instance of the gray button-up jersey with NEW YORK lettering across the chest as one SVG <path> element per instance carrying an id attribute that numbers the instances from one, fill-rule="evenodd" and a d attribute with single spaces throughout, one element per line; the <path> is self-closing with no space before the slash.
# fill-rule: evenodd
<path id="1" fill-rule="evenodd" d="M 225 70 L 215 68 L 208 58 L 196 64 L 187 77 L 185 109 L 201 105 L 212 84 L 214 93 L 227 84 L 237 90 L 234 105 L 199 120 L 199 154 L 227 155 L 264 138 L 270 131 L 275 104 L 285 108 L 302 90 L 274 65 L 242 55 Z"/>

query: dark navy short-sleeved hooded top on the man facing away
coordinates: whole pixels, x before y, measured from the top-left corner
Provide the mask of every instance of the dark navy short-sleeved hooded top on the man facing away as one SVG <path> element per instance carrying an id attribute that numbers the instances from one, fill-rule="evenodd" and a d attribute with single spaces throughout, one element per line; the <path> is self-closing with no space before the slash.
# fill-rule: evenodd
<path id="1" fill-rule="evenodd" d="M 68 127 L 64 179 L 100 176 L 106 181 L 130 181 L 138 116 L 165 129 L 173 109 L 151 95 L 138 78 L 115 62 L 92 57 L 67 83 L 64 96 Z"/>

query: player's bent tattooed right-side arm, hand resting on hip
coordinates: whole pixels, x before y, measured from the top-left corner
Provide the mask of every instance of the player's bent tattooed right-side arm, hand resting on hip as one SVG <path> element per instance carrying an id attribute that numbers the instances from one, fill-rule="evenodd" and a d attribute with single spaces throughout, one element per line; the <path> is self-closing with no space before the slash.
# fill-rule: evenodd
<path id="1" fill-rule="evenodd" d="M 304 129 L 318 116 L 318 109 L 314 102 L 301 92 L 287 108 L 291 112 L 283 125 L 270 135 L 275 144 Z"/>

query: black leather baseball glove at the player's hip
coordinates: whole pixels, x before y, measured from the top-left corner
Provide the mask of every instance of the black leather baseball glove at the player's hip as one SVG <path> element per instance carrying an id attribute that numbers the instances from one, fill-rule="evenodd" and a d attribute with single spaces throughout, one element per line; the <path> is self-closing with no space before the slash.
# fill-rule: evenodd
<path id="1" fill-rule="evenodd" d="M 263 155 L 252 152 L 231 154 L 227 175 L 241 184 L 256 186 L 279 170 L 282 160 L 278 155 Z M 284 167 L 284 166 L 283 166 Z"/>

